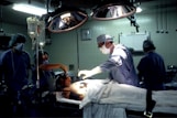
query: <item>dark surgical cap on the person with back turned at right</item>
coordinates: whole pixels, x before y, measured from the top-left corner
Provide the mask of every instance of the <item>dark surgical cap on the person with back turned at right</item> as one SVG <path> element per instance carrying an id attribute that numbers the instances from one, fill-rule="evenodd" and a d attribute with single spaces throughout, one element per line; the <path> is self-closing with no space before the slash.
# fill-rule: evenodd
<path id="1" fill-rule="evenodd" d="M 145 40 L 143 42 L 143 51 L 144 52 L 148 52 L 152 50 L 155 50 L 156 47 L 154 46 L 153 42 L 151 40 Z"/>

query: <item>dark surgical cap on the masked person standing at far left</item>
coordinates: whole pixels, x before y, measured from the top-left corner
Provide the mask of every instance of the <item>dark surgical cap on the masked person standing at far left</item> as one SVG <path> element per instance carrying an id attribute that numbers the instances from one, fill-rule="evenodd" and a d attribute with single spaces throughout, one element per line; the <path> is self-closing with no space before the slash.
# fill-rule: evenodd
<path id="1" fill-rule="evenodd" d="M 25 35 L 18 33 L 11 36 L 11 40 L 9 42 L 9 47 L 14 46 L 16 43 L 25 43 L 26 37 Z"/>

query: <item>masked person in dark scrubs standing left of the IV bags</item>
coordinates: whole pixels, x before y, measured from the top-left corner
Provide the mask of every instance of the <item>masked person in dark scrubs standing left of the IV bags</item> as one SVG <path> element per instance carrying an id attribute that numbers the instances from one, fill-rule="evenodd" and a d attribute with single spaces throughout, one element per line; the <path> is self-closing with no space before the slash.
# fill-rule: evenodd
<path id="1" fill-rule="evenodd" d="M 16 115 L 19 106 L 23 107 L 23 111 L 26 107 L 21 95 L 30 84 L 31 60 L 29 53 L 23 50 L 25 41 L 25 35 L 21 33 L 12 35 L 9 42 L 10 49 L 0 56 L 0 76 L 8 87 L 7 94 L 12 105 L 12 115 Z"/>

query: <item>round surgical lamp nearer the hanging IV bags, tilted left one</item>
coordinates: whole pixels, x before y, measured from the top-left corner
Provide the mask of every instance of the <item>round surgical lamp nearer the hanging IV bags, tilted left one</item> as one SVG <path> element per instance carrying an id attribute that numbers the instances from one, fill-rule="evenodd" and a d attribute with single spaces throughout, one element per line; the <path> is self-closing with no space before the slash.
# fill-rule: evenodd
<path id="1" fill-rule="evenodd" d="M 47 29 L 53 33 L 71 31 L 88 20 L 84 10 L 71 7 L 57 8 L 54 12 L 49 12 L 47 17 Z"/>

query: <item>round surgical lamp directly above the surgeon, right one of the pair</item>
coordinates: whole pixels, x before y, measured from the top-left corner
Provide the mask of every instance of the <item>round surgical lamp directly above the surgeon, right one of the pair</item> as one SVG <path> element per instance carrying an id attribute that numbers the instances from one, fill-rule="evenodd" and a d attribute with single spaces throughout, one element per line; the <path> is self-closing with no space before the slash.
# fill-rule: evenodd
<path id="1" fill-rule="evenodd" d="M 117 2 L 103 1 L 92 10 L 91 18 L 96 20 L 114 20 L 132 15 L 135 11 L 135 7 L 125 0 Z"/>

